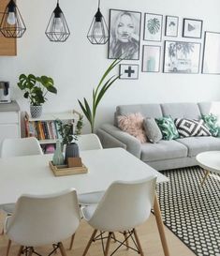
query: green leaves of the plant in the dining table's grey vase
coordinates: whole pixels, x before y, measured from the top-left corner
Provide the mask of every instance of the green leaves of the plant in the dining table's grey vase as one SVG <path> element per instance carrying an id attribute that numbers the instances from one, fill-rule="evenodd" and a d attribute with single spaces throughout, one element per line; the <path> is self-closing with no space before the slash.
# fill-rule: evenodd
<path id="1" fill-rule="evenodd" d="M 66 123 L 60 119 L 56 119 L 55 122 L 58 126 L 58 132 L 62 137 L 63 145 L 69 144 L 73 140 L 78 140 L 78 136 L 81 134 L 81 128 L 83 126 L 83 115 L 80 115 L 75 130 L 73 130 L 73 122 Z"/>

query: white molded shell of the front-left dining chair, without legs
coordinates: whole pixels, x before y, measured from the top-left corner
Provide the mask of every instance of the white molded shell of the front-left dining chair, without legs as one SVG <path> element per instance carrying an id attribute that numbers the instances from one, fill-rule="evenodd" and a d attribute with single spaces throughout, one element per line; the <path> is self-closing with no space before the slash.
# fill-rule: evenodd
<path id="1" fill-rule="evenodd" d="M 71 188 L 47 196 L 22 195 L 15 211 L 7 218 L 7 236 L 14 242 L 37 247 L 58 243 L 77 230 L 80 207 L 76 190 Z"/>

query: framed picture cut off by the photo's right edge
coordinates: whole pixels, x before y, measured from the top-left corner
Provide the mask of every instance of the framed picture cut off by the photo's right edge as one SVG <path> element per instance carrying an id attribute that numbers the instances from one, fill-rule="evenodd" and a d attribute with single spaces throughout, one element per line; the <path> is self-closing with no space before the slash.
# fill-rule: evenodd
<path id="1" fill-rule="evenodd" d="M 220 33 L 205 32 L 202 68 L 203 74 L 220 74 Z"/>

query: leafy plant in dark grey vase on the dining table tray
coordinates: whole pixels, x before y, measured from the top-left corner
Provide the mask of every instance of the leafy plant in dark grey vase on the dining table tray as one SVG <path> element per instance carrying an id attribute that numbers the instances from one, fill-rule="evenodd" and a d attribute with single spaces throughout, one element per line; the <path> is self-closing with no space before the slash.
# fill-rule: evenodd
<path id="1" fill-rule="evenodd" d="M 72 122 L 66 123 L 56 119 L 58 132 L 62 137 L 62 145 L 66 145 L 65 163 L 67 163 L 67 158 L 80 157 L 79 146 L 76 142 L 78 140 L 78 136 L 81 134 L 81 128 L 83 126 L 82 119 L 83 116 L 80 114 L 75 130 Z"/>

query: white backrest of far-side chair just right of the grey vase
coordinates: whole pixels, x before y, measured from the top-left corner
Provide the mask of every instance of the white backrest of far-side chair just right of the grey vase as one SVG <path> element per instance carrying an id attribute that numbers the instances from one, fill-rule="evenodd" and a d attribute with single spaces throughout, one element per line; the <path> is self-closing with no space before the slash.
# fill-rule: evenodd
<path id="1" fill-rule="evenodd" d="M 80 150 L 102 149 L 102 144 L 96 134 L 83 134 L 77 141 Z"/>

